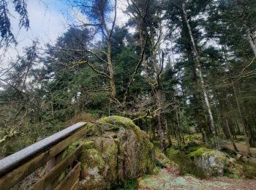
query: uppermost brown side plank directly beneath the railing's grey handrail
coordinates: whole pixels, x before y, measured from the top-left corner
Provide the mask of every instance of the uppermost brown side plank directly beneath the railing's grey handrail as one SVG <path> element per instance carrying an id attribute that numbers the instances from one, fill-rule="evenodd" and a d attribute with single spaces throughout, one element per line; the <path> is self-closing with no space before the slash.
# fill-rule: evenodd
<path id="1" fill-rule="evenodd" d="M 78 140 L 86 132 L 86 127 L 80 129 L 72 136 L 67 137 L 66 139 L 59 142 L 57 145 L 54 145 L 48 151 L 39 154 L 34 159 L 27 161 L 25 164 L 20 165 L 20 167 L 15 168 L 11 172 L 7 173 L 0 178 L 0 187 L 2 189 L 10 189 L 16 183 L 26 178 L 29 174 L 37 170 L 39 167 L 42 167 L 42 164 L 45 164 L 48 160 L 52 159 L 58 153 L 67 148 L 72 142 Z"/>

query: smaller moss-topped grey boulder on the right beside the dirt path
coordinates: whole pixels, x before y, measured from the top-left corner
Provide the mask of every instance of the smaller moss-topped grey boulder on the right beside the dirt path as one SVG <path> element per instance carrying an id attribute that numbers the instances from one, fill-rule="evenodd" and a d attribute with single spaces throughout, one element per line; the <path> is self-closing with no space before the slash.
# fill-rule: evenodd
<path id="1" fill-rule="evenodd" d="M 189 158 L 200 167 L 206 176 L 219 176 L 224 174 L 225 166 L 229 162 L 227 155 L 221 151 L 199 148 L 189 153 Z"/>

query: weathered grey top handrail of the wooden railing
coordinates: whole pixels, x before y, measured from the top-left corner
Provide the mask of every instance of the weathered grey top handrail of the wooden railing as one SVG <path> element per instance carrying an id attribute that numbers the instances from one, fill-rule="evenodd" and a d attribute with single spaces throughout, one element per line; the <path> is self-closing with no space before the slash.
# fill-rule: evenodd
<path id="1" fill-rule="evenodd" d="M 10 172 L 12 169 L 20 166 L 20 164 L 25 163 L 34 156 L 37 156 L 39 153 L 55 145 L 57 142 L 69 137 L 70 134 L 73 134 L 85 125 L 86 122 L 76 123 L 75 125 L 69 126 L 67 129 L 62 130 L 61 132 L 57 132 L 44 140 L 40 140 L 39 142 L 36 142 L 33 145 L 18 151 L 17 153 L 13 153 L 4 159 L 1 159 L 0 176 Z"/>

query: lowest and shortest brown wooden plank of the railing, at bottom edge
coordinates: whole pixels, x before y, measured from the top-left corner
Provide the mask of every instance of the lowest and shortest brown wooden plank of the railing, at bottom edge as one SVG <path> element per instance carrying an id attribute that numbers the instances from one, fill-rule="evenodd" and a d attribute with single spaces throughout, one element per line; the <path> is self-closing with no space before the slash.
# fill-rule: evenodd
<path id="1" fill-rule="evenodd" d="M 79 180 L 81 162 L 75 165 L 75 167 L 69 172 L 64 180 L 56 186 L 54 190 L 70 190 L 75 185 L 76 181 Z"/>

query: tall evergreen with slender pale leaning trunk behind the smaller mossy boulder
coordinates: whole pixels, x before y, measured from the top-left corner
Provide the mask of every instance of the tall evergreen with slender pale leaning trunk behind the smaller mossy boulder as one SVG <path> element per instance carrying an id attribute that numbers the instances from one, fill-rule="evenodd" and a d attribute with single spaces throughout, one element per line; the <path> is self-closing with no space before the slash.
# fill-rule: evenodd
<path id="1" fill-rule="evenodd" d="M 171 1 L 167 9 L 165 17 L 170 19 L 170 33 L 177 34 L 177 27 L 180 29 L 179 38 L 176 40 L 176 49 L 178 52 L 184 53 L 184 58 L 187 61 L 181 61 L 181 66 L 184 66 L 184 79 L 186 85 L 192 92 L 192 98 L 189 97 L 194 107 L 196 107 L 194 114 L 197 117 L 200 129 L 202 130 L 205 141 L 208 141 L 212 134 L 216 134 L 214 125 L 214 116 L 211 110 L 211 105 L 208 99 L 208 90 L 206 89 L 206 82 L 203 74 L 202 61 L 203 57 L 203 45 L 200 45 L 200 41 L 203 39 L 202 34 L 197 26 L 202 26 L 202 20 L 198 15 L 203 14 L 206 11 L 206 5 L 208 1 Z M 189 12 L 189 13 L 188 13 Z M 194 20 L 192 20 L 194 19 Z M 187 83 L 192 86 L 187 86 Z M 184 83 L 185 84 L 185 83 Z M 190 89 L 189 89 L 190 88 Z M 200 91 L 203 91 L 201 93 Z M 189 94 L 188 94 L 189 95 Z M 185 97 L 187 99 L 187 97 Z M 201 103 L 203 102 L 203 104 Z M 203 105 L 206 109 L 203 108 Z M 199 109 L 199 107 L 202 107 Z M 191 108 L 190 108 L 191 109 Z M 208 129 L 207 121 L 205 119 L 205 111 L 208 113 L 208 121 L 210 121 L 211 129 Z M 199 118 L 200 117 L 200 118 Z"/>

